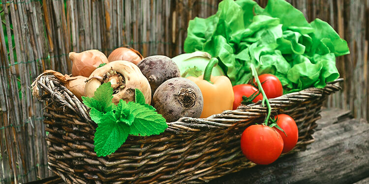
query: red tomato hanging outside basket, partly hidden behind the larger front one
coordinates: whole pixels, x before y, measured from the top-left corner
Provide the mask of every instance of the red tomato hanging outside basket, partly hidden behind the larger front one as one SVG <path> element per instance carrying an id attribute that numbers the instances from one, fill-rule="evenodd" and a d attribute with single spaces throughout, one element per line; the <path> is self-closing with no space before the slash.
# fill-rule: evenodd
<path id="1" fill-rule="evenodd" d="M 291 116 L 287 114 L 278 114 L 275 118 L 277 119 L 277 125 L 287 134 L 286 136 L 282 131 L 273 127 L 282 136 L 282 153 L 287 153 L 296 146 L 297 139 L 299 139 L 299 130 L 297 129 L 295 120 L 293 120 Z"/>

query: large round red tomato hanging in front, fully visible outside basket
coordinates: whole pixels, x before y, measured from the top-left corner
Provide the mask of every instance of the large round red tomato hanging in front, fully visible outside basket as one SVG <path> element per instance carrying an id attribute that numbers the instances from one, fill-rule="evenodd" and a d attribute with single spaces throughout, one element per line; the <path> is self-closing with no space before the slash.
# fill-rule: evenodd
<path id="1" fill-rule="evenodd" d="M 273 163 L 282 153 L 282 149 L 283 139 L 273 128 L 251 125 L 241 135 L 242 153 L 256 164 Z"/>

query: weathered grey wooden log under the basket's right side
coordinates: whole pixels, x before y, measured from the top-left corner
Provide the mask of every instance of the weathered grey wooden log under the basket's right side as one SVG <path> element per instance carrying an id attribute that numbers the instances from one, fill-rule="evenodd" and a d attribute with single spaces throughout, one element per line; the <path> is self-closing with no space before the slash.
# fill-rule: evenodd
<path id="1" fill-rule="evenodd" d="M 336 114 L 328 111 L 327 114 Z M 329 117 L 329 116 L 328 116 Z M 330 116 L 332 117 L 332 116 Z M 211 184 L 347 184 L 367 183 L 369 124 L 347 119 L 344 111 L 318 122 L 315 142 L 307 151 L 279 158 L 270 165 L 245 169 Z M 336 121 L 332 121 L 336 119 Z M 344 121 L 342 121 L 344 120 Z"/>

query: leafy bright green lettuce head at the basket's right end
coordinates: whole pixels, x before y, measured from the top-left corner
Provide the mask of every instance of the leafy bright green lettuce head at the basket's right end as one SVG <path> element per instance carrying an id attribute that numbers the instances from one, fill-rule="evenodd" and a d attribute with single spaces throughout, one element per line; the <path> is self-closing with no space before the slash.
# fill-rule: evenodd
<path id="1" fill-rule="evenodd" d="M 217 57 L 233 85 L 252 78 L 253 64 L 258 74 L 277 76 L 285 93 L 338 79 L 336 56 L 349 53 L 328 23 L 308 23 L 285 0 L 268 0 L 265 9 L 253 0 L 221 1 L 215 15 L 189 22 L 184 51 Z"/>

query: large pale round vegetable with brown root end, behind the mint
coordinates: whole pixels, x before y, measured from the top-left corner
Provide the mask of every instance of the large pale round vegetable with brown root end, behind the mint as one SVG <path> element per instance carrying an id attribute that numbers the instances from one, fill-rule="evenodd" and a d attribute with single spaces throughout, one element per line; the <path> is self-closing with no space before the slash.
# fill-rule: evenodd
<path id="1" fill-rule="evenodd" d="M 129 61 L 112 61 L 97 68 L 86 83 L 85 95 L 93 97 L 96 89 L 102 84 L 110 82 L 113 87 L 113 103 L 118 104 L 121 99 L 134 102 L 135 88 L 145 96 L 147 104 L 151 103 L 151 87 L 149 81 L 141 73 L 140 68 Z"/>

